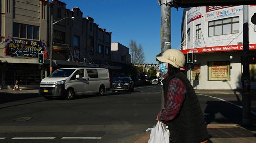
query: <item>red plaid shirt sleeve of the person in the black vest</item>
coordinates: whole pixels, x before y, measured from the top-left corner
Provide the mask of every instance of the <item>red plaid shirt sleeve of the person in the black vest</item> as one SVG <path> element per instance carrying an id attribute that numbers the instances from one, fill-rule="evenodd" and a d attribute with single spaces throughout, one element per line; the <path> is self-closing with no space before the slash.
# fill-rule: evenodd
<path id="1" fill-rule="evenodd" d="M 168 73 L 163 77 L 166 78 L 167 76 Z M 157 119 L 163 123 L 174 119 L 179 113 L 180 107 L 185 99 L 185 94 L 186 86 L 180 79 L 173 78 L 170 80 L 166 101 L 164 103 L 165 108 L 158 113 Z"/>

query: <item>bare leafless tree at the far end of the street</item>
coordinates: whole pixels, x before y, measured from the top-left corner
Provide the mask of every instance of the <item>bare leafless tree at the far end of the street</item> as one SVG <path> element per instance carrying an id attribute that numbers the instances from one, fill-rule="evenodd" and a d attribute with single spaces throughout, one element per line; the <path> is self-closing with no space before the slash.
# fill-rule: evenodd
<path id="1" fill-rule="evenodd" d="M 145 54 L 143 52 L 143 47 L 141 44 L 137 45 L 136 41 L 130 41 L 130 51 L 131 51 L 131 63 L 132 64 L 142 64 L 145 62 Z"/>

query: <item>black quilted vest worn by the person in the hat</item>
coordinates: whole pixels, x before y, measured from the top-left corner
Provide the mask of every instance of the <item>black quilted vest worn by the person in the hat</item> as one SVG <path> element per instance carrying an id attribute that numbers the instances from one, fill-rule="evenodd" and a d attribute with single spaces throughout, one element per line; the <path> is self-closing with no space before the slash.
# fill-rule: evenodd
<path id="1" fill-rule="evenodd" d="M 184 73 L 178 72 L 173 76 L 169 75 L 162 81 L 164 99 L 167 96 L 169 82 L 173 78 L 179 78 L 185 84 L 187 90 L 180 112 L 173 120 L 168 121 L 172 143 L 200 143 L 207 140 L 209 135 L 202 109 L 195 90 Z"/>

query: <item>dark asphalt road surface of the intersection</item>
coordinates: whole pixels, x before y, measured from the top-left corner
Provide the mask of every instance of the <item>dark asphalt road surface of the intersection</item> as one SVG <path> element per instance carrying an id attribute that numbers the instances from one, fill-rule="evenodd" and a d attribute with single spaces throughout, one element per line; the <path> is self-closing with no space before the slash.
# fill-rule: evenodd
<path id="1" fill-rule="evenodd" d="M 132 143 L 156 124 L 160 91 L 152 85 L 136 87 L 133 93 L 84 95 L 71 101 L 46 100 L 36 90 L 1 92 L 0 142 Z M 207 123 L 242 122 L 239 106 L 205 93 L 198 98 Z"/>

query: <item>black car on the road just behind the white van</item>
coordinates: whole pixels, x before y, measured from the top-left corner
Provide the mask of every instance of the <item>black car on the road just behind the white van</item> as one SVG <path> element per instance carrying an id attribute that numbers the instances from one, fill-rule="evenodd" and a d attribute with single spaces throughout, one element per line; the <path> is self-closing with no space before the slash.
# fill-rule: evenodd
<path id="1" fill-rule="evenodd" d="M 134 91 L 134 82 L 130 77 L 117 77 L 112 81 L 112 92 L 115 91 Z"/>

